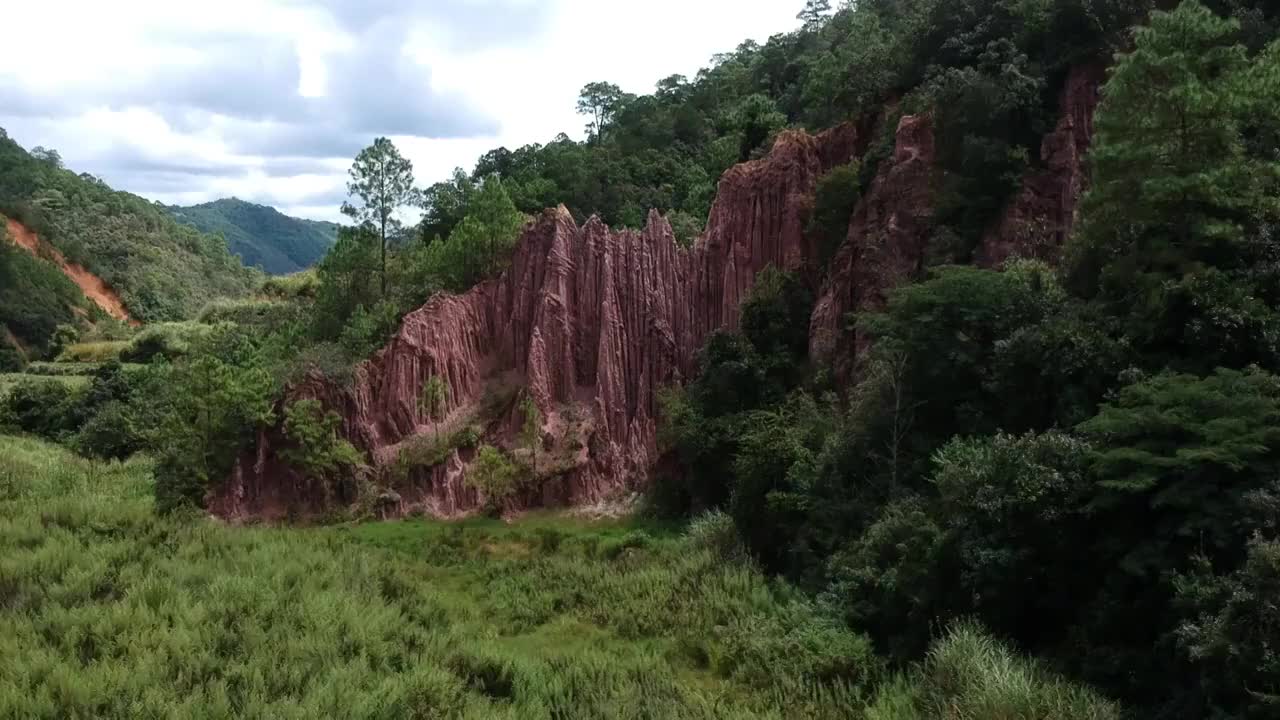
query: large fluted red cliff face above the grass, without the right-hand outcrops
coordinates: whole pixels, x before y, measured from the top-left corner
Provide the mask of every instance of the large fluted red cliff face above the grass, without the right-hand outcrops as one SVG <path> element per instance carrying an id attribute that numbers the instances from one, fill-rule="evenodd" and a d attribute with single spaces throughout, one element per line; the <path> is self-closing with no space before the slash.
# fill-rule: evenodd
<path id="1" fill-rule="evenodd" d="M 780 136 L 772 152 L 736 165 L 719 182 L 707 232 L 677 247 L 657 213 L 640 231 L 614 232 L 593 219 L 579 227 L 548 210 L 525 232 L 511 268 L 460 296 L 436 296 L 404 318 L 390 343 L 356 372 L 349 387 L 312 379 L 291 398 L 316 397 L 343 416 L 344 434 L 387 478 L 401 450 L 438 427 L 484 415 L 485 436 L 503 443 L 517 424 L 503 392 L 529 392 L 541 410 L 543 462 L 554 471 L 516 506 L 590 503 L 625 493 L 657 456 L 655 393 L 695 372 L 704 338 L 737 324 L 739 304 L 768 265 L 803 266 L 804 227 L 818 178 L 850 160 L 855 131 Z M 448 416 L 419 407 L 433 375 L 448 384 Z M 497 402 L 494 398 L 499 398 Z M 497 407 L 497 414 L 494 414 Z M 210 497 L 227 518 L 316 511 L 316 493 L 280 462 L 278 429 L 260 433 L 232 478 Z M 390 514 L 456 515 L 483 501 L 463 482 L 468 450 L 417 468 L 385 493 Z"/>

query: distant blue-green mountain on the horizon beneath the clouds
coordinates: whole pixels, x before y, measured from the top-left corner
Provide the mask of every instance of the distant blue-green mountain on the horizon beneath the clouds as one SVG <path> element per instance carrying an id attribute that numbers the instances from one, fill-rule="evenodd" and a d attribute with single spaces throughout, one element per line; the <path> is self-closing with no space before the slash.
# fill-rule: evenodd
<path id="1" fill-rule="evenodd" d="M 170 206 L 169 211 L 201 232 L 221 233 L 228 249 L 246 265 L 257 265 L 273 275 L 314 265 L 338 237 L 337 223 L 291 218 L 275 208 L 236 197 Z"/>

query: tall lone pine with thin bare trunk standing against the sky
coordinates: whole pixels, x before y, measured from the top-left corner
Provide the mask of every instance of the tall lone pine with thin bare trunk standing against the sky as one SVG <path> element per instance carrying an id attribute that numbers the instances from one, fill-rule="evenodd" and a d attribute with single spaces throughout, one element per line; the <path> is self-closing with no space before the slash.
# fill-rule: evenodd
<path id="1" fill-rule="evenodd" d="M 358 223 L 371 223 L 381 240 L 381 288 L 387 296 L 387 234 L 399 228 L 396 213 L 406 205 L 420 205 L 421 193 L 413 187 L 413 164 L 396 145 L 379 137 L 356 155 L 348 170 L 347 192 L 360 201 L 342 204 L 342 213 Z"/>

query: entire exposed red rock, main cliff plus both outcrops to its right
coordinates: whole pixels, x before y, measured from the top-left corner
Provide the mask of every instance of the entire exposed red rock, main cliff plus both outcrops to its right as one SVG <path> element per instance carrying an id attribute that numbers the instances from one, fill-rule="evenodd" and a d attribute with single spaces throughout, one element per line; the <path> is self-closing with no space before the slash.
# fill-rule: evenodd
<path id="1" fill-rule="evenodd" d="M 1097 65 L 1070 73 L 1060 122 L 1042 142 L 1041 168 L 1027 174 L 982 238 L 982 264 L 1056 258 L 1084 191 L 1102 77 Z M 613 232 L 595 219 L 579 227 L 563 209 L 548 210 L 526 229 L 502 277 L 461 296 L 438 296 L 406 316 L 349 387 L 314 378 L 291 398 L 316 397 L 338 411 L 344 434 L 385 478 L 407 445 L 477 419 L 488 441 L 509 447 L 518 389 L 543 413 L 543 462 L 550 471 L 513 509 L 586 505 L 636 489 L 657 460 L 658 388 L 691 377 L 709 333 L 736 327 L 756 273 L 771 264 L 808 266 L 814 249 L 804 227 L 817 182 L 865 150 L 863 129 L 788 132 L 767 158 L 731 168 L 691 250 L 676 246 L 655 213 L 640 232 Z M 856 375 L 869 343 L 849 327 L 850 314 L 883 307 L 891 290 L 924 270 L 934 170 L 931 117 L 901 118 L 893 156 L 858 204 L 810 319 L 810 357 L 837 378 Z M 438 423 L 424 418 L 417 402 L 431 375 L 449 386 L 448 416 Z M 278 428 L 264 430 L 212 493 L 210 510 L 227 518 L 320 510 L 317 493 L 276 459 L 283 442 Z M 475 510 L 484 498 L 463 482 L 470 456 L 452 451 L 443 462 L 411 470 L 384 493 L 394 507 L 379 512 Z"/>

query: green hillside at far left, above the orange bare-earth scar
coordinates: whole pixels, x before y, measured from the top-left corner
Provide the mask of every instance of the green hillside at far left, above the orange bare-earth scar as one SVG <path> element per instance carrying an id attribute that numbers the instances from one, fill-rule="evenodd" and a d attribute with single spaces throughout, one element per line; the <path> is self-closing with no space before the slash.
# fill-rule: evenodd
<path id="1" fill-rule="evenodd" d="M 102 278 L 142 322 L 188 318 L 215 297 L 246 293 L 259 279 L 221 238 L 178 223 L 161 205 L 64 168 L 54 150 L 28 152 L 3 129 L 0 214 Z"/>

